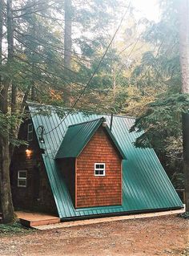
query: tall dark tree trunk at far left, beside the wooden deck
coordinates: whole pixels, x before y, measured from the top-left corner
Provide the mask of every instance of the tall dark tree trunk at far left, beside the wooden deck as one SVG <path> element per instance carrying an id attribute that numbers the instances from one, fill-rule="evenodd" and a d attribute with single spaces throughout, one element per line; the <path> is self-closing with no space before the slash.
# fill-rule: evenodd
<path id="1" fill-rule="evenodd" d="M 1 0 L 0 3 L 0 26 L 2 26 L 2 12 L 4 10 L 4 4 Z M 7 41 L 8 41 L 8 61 L 7 70 L 11 72 L 12 58 L 13 58 L 13 30 L 12 30 L 12 2 L 7 0 L 6 2 L 6 14 L 7 14 Z M 0 28 L 2 35 L 2 27 Z M 0 38 L 1 40 L 2 38 Z M 2 43 L 1 43 L 2 44 Z M 2 49 L 1 49 L 2 53 Z M 1 55 L 2 57 L 2 55 Z M 2 64 L 2 63 L 1 63 Z M 9 115 L 8 115 L 8 90 L 11 81 L 8 75 L 6 79 L 1 81 L 1 93 L 0 93 L 0 115 L 1 115 L 1 133 L 0 133 L 0 199 L 2 206 L 2 220 L 4 223 L 13 221 L 14 219 L 14 207 L 10 190 L 10 152 L 9 152 Z"/>

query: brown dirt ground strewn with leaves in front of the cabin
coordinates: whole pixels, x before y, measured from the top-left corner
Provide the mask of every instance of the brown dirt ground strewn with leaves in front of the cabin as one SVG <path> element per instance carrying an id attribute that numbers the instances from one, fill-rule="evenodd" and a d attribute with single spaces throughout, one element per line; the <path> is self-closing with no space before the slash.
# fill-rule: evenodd
<path id="1" fill-rule="evenodd" d="M 152 217 L 3 235 L 0 255 L 189 255 L 189 220 Z"/>

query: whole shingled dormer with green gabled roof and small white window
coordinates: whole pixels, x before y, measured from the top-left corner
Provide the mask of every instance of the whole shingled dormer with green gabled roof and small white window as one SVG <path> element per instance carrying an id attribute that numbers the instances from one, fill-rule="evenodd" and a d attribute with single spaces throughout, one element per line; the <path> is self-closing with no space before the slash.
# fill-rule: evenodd
<path id="1" fill-rule="evenodd" d="M 75 208 L 122 205 L 126 157 L 104 121 L 69 126 L 55 157 Z"/>

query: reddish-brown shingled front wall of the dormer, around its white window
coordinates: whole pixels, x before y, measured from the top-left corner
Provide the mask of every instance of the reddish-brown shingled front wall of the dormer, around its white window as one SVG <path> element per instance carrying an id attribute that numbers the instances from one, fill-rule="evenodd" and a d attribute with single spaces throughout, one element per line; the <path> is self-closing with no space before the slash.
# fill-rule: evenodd
<path id="1" fill-rule="evenodd" d="M 106 164 L 106 176 L 94 176 L 94 163 Z M 75 207 L 122 204 L 122 159 L 103 127 L 78 156 Z"/>

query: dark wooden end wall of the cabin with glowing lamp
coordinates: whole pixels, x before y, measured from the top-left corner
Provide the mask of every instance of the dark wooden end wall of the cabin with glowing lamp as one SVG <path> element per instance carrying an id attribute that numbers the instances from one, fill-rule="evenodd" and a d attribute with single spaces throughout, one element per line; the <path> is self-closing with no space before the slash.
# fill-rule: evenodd
<path id="1" fill-rule="evenodd" d="M 30 120 L 22 124 L 18 134 L 19 139 L 26 140 L 28 123 L 30 123 Z M 34 139 L 30 141 L 29 149 L 32 150 L 32 155 L 27 157 L 26 146 L 15 148 L 10 164 L 10 182 L 14 208 L 57 213 L 35 134 Z M 18 187 L 18 170 L 27 171 L 26 188 Z"/>

